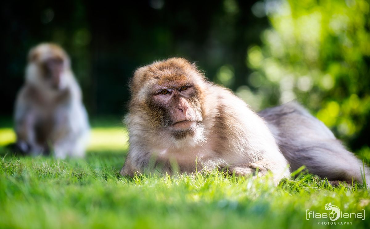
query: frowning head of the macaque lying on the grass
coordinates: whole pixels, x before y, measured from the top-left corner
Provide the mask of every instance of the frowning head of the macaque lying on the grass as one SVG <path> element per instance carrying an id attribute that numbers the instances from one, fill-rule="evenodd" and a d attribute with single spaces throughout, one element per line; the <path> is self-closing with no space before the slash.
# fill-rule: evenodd
<path id="1" fill-rule="evenodd" d="M 130 114 L 159 136 L 196 137 L 202 131 L 204 87 L 203 75 L 182 58 L 140 67 L 130 82 Z"/>

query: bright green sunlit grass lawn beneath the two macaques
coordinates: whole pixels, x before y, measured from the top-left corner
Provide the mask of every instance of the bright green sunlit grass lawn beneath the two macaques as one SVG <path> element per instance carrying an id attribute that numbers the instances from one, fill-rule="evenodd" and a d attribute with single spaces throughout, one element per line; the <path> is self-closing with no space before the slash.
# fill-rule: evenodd
<path id="1" fill-rule="evenodd" d="M 332 187 L 311 175 L 277 187 L 268 177 L 218 172 L 121 177 L 125 129 L 119 123 L 93 126 L 85 159 L 66 160 L 14 157 L 3 147 L 14 141 L 14 133 L 10 126 L 0 129 L 0 228 L 370 227 L 369 190 L 361 185 Z M 369 155 L 368 148 L 360 152 L 367 162 Z M 307 209 L 328 213 L 327 203 L 342 213 L 365 211 L 365 219 L 352 214 L 306 220 Z"/>

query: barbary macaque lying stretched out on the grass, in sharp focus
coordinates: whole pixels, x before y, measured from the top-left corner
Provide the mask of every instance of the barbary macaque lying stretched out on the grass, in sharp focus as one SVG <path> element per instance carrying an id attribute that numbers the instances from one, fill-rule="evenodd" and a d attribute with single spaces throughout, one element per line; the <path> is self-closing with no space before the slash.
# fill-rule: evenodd
<path id="1" fill-rule="evenodd" d="M 259 114 L 195 64 L 171 58 L 140 67 L 125 118 L 129 152 L 121 175 L 221 169 L 273 174 L 277 183 L 305 165 L 330 180 L 363 182 L 359 159 L 297 103 Z M 363 170 L 364 169 L 364 170 Z M 367 178 L 369 179 L 369 178 Z M 368 180 L 367 180 L 368 181 Z"/>

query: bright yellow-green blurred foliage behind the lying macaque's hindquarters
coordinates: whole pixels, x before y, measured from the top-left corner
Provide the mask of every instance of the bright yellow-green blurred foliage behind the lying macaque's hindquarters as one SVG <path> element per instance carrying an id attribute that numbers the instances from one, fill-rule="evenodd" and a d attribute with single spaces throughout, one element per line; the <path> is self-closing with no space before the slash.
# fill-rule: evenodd
<path id="1" fill-rule="evenodd" d="M 369 2 L 266 1 L 264 7 L 271 28 L 262 32 L 262 45 L 248 49 L 252 90 L 242 86 L 239 95 L 257 109 L 297 99 L 337 136 L 356 139 L 353 147 L 368 146 Z"/>

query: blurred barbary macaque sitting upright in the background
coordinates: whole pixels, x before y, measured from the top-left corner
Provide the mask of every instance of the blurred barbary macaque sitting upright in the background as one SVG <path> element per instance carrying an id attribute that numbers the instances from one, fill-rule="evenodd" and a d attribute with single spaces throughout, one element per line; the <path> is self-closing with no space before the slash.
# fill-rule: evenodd
<path id="1" fill-rule="evenodd" d="M 30 155 L 84 156 L 90 127 L 70 59 L 58 45 L 42 43 L 28 53 L 14 112 L 17 148 Z"/>

